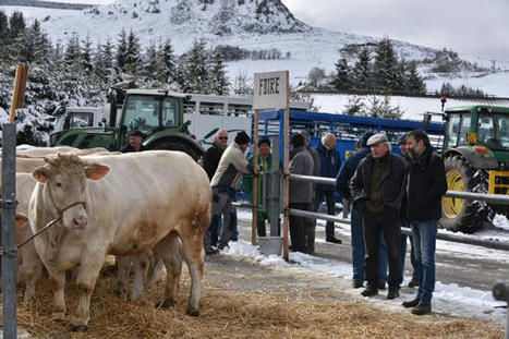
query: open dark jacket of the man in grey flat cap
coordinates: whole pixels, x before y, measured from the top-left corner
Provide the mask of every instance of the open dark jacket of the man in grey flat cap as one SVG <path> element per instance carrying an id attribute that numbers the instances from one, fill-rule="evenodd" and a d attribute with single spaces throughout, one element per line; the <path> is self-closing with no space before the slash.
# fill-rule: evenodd
<path id="1" fill-rule="evenodd" d="M 373 160 L 371 154 L 361 160 L 350 182 L 353 207 L 361 213 L 365 210 L 365 202 L 369 198 Z M 407 169 L 403 159 L 389 153 L 388 166 L 381 175 L 381 198 L 386 207 L 393 208 L 398 213 L 404 193 L 405 177 Z"/>

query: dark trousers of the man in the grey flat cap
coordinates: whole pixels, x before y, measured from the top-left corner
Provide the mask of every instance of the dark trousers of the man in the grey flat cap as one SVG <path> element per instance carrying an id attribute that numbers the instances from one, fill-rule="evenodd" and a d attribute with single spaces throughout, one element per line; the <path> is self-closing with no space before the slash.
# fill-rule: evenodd
<path id="1" fill-rule="evenodd" d="M 364 241 L 366 244 L 365 274 L 367 283 L 377 287 L 379 281 L 379 249 L 380 235 L 384 234 L 387 244 L 389 262 L 389 287 L 399 287 L 402 282 L 400 273 L 400 247 L 401 247 L 401 220 L 398 211 L 387 208 L 383 213 L 369 213 L 363 215 Z"/>

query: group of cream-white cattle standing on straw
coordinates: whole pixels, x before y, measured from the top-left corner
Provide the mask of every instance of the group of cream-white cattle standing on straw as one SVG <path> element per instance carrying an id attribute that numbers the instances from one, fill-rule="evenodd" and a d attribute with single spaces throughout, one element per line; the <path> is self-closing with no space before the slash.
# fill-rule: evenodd
<path id="1" fill-rule="evenodd" d="M 148 262 L 156 257 L 167 269 L 158 305 L 175 303 L 185 259 L 189 314 L 199 314 L 210 186 L 205 171 L 186 154 L 17 146 L 16 201 L 17 243 L 58 221 L 19 250 L 24 303 L 34 298 L 44 265 L 53 291 L 52 316 L 65 320 L 65 273 L 73 270 L 80 301 L 70 320 L 73 330 L 84 331 L 107 255 L 117 256 L 120 290 L 125 290 L 134 267 L 132 299 L 143 293 Z"/>

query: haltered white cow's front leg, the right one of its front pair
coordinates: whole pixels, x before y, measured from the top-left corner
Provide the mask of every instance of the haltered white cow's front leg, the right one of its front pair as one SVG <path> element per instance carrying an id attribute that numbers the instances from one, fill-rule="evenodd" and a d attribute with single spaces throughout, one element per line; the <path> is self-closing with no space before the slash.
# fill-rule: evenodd
<path id="1" fill-rule="evenodd" d="M 87 253 L 83 255 L 88 259 L 84 259 L 80 265 L 77 273 L 76 286 L 80 301 L 77 304 L 76 316 L 73 320 L 73 331 L 86 331 L 88 320 L 90 319 L 90 295 L 94 291 L 97 278 L 99 277 L 106 254 L 102 259 L 97 259 L 97 254 Z M 95 258 L 95 261 L 94 261 Z"/>

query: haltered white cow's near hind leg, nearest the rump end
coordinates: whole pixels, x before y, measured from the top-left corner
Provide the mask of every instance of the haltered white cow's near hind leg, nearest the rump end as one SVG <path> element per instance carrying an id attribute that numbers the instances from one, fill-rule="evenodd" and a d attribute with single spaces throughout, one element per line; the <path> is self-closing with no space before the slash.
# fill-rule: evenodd
<path id="1" fill-rule="evenodd" d="M 202 277 L 205 258 L 203 235 L 196 233 L 186 235 L 189 237 L 184 235 L 181 239 L 182 252 L 191 276 L 191 293 L 187 313 L 192 316 L 199 316 L 199 298 L 202 296 Z"/>

